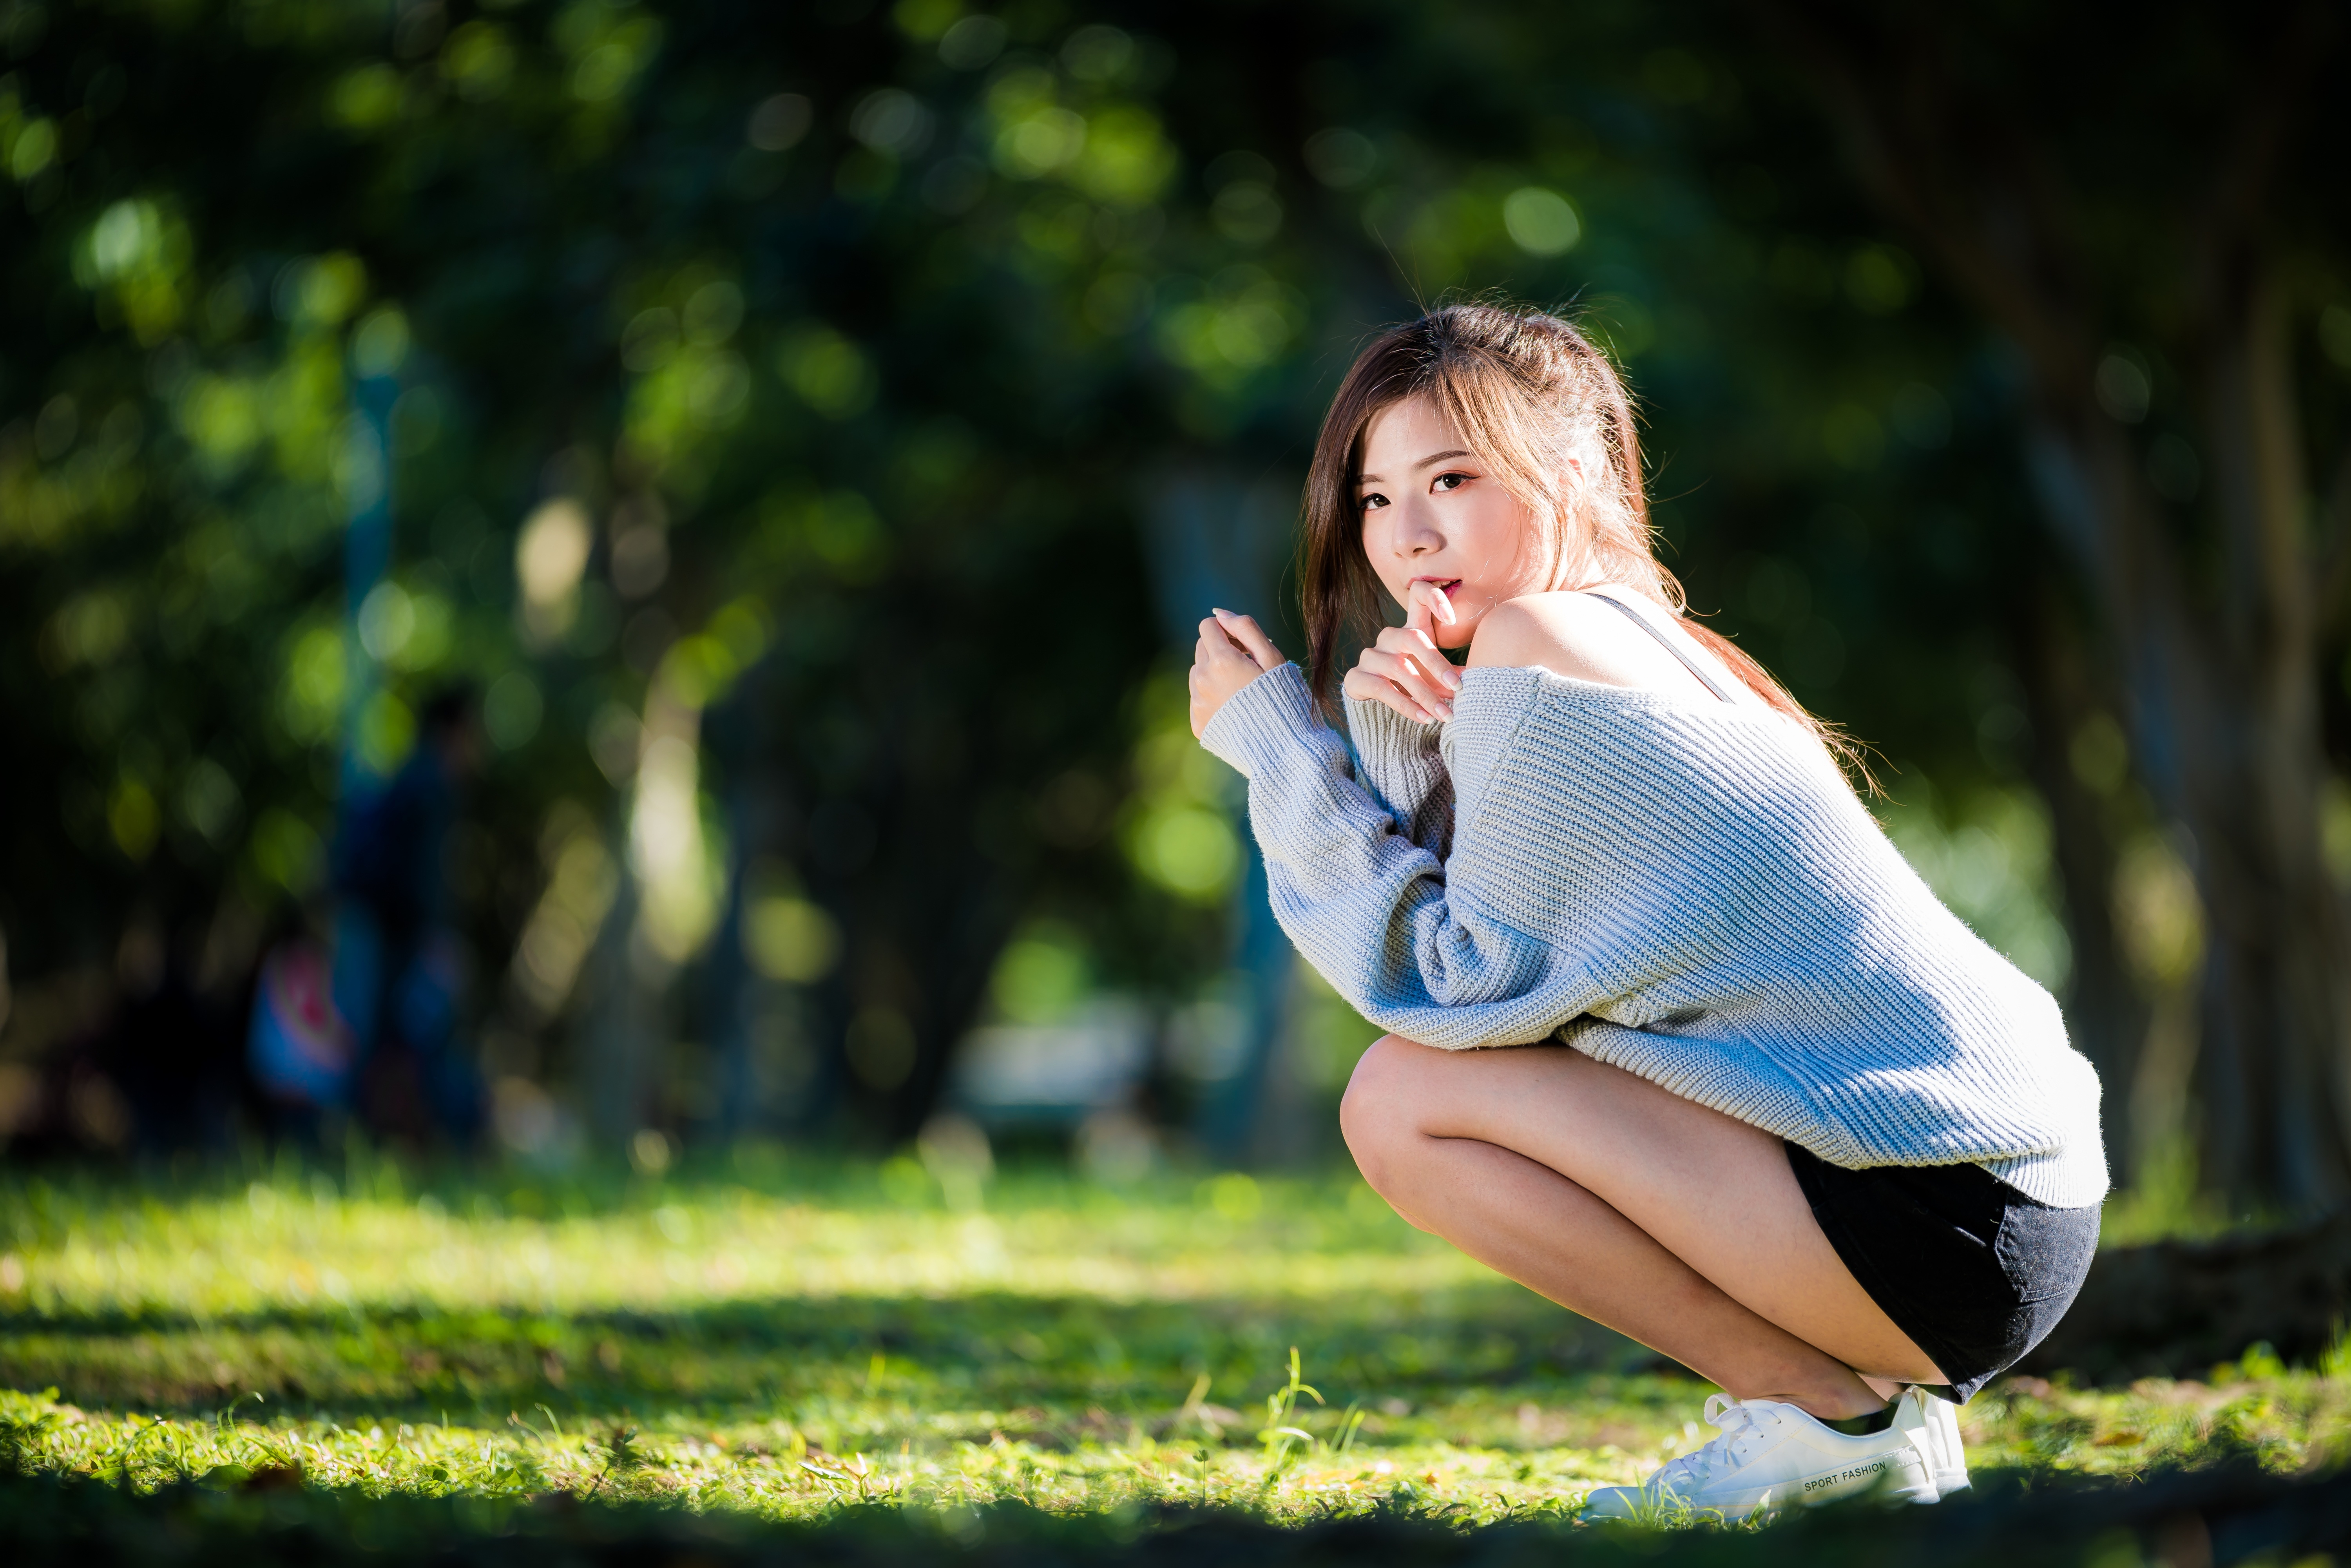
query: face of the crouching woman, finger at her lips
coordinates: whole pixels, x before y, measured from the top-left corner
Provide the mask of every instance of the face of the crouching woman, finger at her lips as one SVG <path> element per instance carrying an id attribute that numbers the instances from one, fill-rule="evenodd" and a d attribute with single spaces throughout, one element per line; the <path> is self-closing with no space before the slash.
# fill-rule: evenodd
<path id="1" fill-rule="evenodd" d="M 1453 625 L 1429 628 L 1441 649 L 1467 646 L 1495 604 L 1552 588 L 1533 515 L 1432 397 L 1394 402 L 1364 430 L 1357 505 L 1364 555 L 1396 604 L 1411 607 L 1420 581 L 1453 604 Z"/>

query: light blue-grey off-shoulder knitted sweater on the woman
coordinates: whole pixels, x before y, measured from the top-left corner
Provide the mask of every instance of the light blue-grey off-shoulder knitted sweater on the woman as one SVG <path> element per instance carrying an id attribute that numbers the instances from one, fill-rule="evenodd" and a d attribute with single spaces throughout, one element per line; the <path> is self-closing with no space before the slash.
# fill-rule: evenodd
<path id="1" fill-rule="evenodd" d="M 1918 879 L 1822 748 L 1747 703 L 1472 668 L 1451 724 L 1298 665 L 1204 743 L 1248 776 L 1274 917 L 1364 1018 L 1446 1051 L 1559 1039 L 1848 1168 L 2106 1192 L 2057 1004 Z"/>

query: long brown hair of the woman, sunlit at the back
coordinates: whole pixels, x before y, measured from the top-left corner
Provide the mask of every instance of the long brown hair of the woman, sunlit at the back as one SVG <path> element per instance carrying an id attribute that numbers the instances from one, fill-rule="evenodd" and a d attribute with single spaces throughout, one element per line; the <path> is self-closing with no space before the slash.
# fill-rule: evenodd
<path id="1" fill-rule="evenodd" d="M 1387 625 L 1387 590 L 1364 555 L 1357 501 L 1364 433 L 1382 409 L 1422 395 L 1436 400 L 1462 442 L 1533 512 L 1554 581 L 1580 555 L 1587 581 L 1629 588 L 1679 616 L 1775 712 L 1848 766 L 1860 764 L 1850 738 L 1806 712 L 1735 642 L 1688 618 L 1681 583 L 1657 559 L 1641 435 L 1608 355 L 1556 315 L 1507 306 L 1444 306 L 1382 331 L 1331 400 L 1307 470 L 1300 562 L 1317 696 L 1333 698 L 1345 646 L 1371 642 Z"/>

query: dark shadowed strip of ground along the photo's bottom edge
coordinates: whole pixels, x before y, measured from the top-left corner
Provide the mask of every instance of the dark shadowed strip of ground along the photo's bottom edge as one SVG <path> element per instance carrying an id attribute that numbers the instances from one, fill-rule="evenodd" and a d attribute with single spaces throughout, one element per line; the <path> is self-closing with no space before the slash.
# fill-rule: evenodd
<path id="1" fill-rule="evenodd" d="M 2351 1476 L 2280 1479 L 2255 1469 L 2170 1472 L 2137 1483 L 2050 1481 L 1961 1495 L 1893 1514 L 1838 1507 L 1761 1533 L 1650 1535 L 1559 1521 L 1455 1528 L 1375 1509 L 1300 1526 L 1239 1514 L 1159 1509 L 1051 1514 L 853 1507 L 820 1526 L 778 1526 L 658 1505 L 555 1500 L 360 1497 L 350 1493 L 153 1495 L 96 1481 L 0 1479 L 0 1544 L 26 1568 L 47 1563 L 1806 1563 L 1958 1568 L 2001 1563 L 2290 1563 L 2351 1549 Z"/>

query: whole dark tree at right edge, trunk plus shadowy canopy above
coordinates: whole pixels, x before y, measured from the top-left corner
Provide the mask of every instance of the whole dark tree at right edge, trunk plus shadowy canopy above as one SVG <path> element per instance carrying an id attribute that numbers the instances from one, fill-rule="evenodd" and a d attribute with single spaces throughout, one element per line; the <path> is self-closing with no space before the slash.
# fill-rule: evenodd
<path id="1" fill-rule="evenodd" d="M 2342 16 L 1763 14 L 1871 195 L 2022 355 L 2048 531 L 2128 691 L 2132 764 L 2193 842 L 2205 1173 L 2245 1201 L 2337 1204 L 2351 952 L 2323 804 L 2351 609 L 2351 235 L 2311 197 L 2342 158 Z M 2024 621 L 2064 618 L 2020 576 Z M 2036 635 L 2036 691 L 2078 736 L 2092 703 L 2062 635 Z M 2111 865 L 2052 783 L 2095 903 Z"/>

